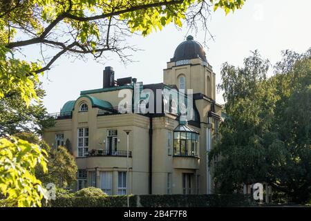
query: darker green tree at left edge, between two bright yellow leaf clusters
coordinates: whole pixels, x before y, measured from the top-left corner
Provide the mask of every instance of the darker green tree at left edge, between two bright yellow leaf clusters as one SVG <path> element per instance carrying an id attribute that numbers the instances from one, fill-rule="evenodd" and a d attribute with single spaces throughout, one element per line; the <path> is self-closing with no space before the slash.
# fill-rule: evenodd
<path id="1" fill-rule="evenodd" d="M 54 119 L 48 117 L 41 101 L 45 92 L 41 86 L 35 82 L 34 84 L 39 100 L 32 102 L 28 107 L 21 102 L 21 95 L 17 91 L 12 91 L 0 99 L 0 137 L 22 131 L 41 135 L 44 128 L 54 126 Z"/>

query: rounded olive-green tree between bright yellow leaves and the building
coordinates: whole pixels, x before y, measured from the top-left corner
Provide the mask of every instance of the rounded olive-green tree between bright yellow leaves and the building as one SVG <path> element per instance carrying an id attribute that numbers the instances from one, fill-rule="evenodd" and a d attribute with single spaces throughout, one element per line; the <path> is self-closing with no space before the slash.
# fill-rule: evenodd
<path id="1" fill-rule="evenodd" d="M 35 175 L 42 183 L 53 183 L 58 188 L 66 188 L 73 185 L 77 180 L 77 165 L 75 157 L 64 146 L 50 148 L 44 140 L 39 140 L 33 133 L 17 133 L 17 137 L 37 144 L 48 153 L 48 171 L 45 173 L 39 166 Z"/>

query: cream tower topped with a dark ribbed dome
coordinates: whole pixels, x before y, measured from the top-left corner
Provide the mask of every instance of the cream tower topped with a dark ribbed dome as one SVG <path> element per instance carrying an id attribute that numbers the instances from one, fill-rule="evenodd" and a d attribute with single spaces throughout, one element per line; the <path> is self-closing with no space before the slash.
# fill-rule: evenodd
<path id="1" fill-rule="evenodd" d="M 180 43 L 167 62 L 163 73 L 164 84 L 176 85 L 178 89 L 192 89 L 194 93 L 215 99 L 215 73 L 207 63 L 205 50 L 189 35 Z"/>

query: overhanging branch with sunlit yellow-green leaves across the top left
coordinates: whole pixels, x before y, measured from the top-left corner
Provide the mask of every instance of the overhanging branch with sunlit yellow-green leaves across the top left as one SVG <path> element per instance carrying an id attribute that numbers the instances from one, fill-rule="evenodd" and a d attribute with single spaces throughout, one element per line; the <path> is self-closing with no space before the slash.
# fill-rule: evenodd
<path id="1" fill-rule="evenodd" d="M 131 61 L 126 44 L 133 33 L 149 35 L 169 23 L 207 28 L 210 8 L 225 12 L 243 6 L 243 0 L 6 0 L 0 3 L 0 98 L 19 90 L 27 104 L 37 98 L 29 77 L 49 70 L 62 55 L 95 59 L 115 52 L 122 61 Z M 184 23 L 183 23 L 184 22 Z M 23 47 L 39 45 L 42 61 L 16 59 Z M 42 49 L 42 48 L 45 48 Z M 55 54 L 45 55 L 46 49 Z M 48 50 L 49 52 L 51 50 Z M 38 55 L 39 59 L 39 55 Z"/>

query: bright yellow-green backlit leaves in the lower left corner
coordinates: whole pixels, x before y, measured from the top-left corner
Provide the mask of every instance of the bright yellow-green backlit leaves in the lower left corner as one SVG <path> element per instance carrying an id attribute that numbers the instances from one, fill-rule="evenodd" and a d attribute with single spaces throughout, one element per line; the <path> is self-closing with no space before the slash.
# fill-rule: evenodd
<path id="1" fill-rule="evenodd" d="M 0 140 L 0 190 L 9 206 L 41 206 L 44 187 L 35 167 L 47 171 L 46 151 L 17 137 Z"/>

